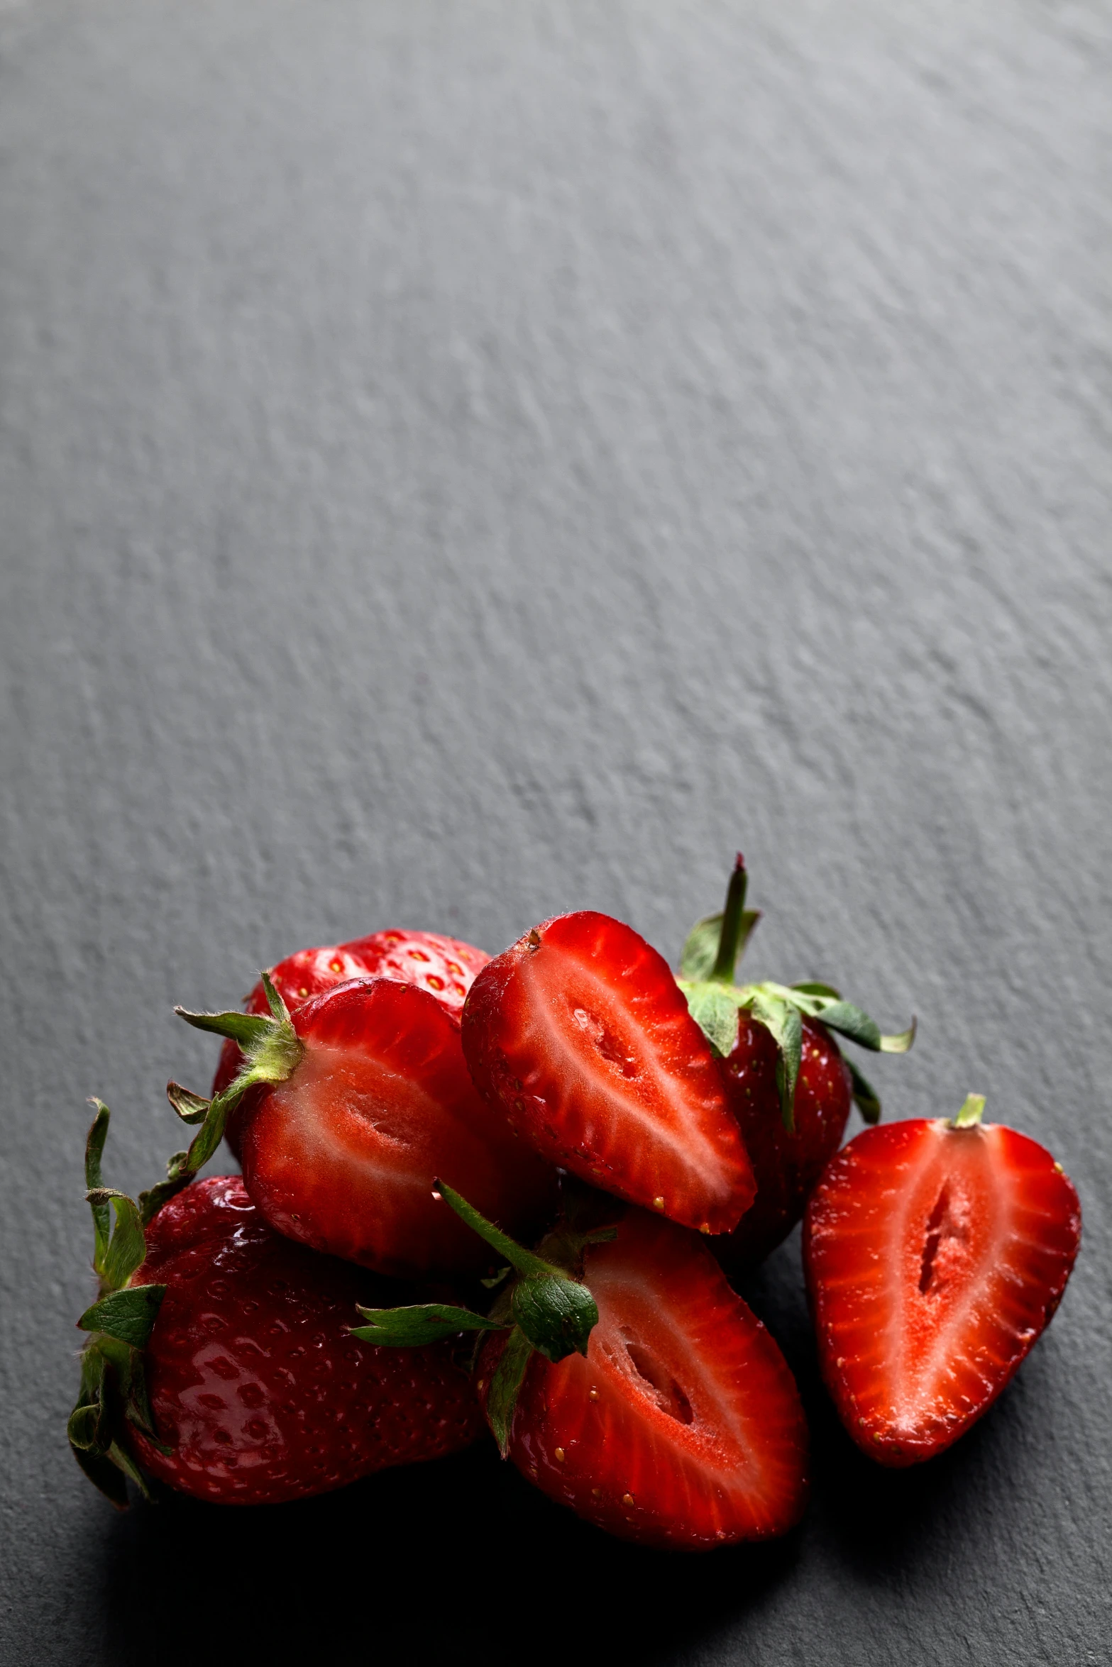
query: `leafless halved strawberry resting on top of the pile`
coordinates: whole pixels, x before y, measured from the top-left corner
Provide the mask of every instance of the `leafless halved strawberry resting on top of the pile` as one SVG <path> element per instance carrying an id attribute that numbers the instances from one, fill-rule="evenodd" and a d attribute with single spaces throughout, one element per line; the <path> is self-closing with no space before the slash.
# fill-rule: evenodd
<path id="1" fill-rule="evenodd" d="M 482 969 L 463 1052 L 548 1162 L 630 1204 L 729 1232 L 754 1175 L 710 1047 L 667 962 L 632 927 L 545 920 Z"/>

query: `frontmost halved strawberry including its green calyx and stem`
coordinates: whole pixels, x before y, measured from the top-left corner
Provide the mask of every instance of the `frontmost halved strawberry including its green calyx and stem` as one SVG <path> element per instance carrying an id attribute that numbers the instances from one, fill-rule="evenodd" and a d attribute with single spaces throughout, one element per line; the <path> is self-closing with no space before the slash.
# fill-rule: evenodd
<path id="1" fill-rule="evenodd" d="M 699 1237 L 572 1190 L 533 1254 L 442 1194 L 518 1279 L 487 1319 L 367 1312 L 358 1337 L 487 1330 L 477 1389 L 502 1455 L 622 1539 L 702 1550 L 799 1520 L 807 1425 L 792 1374 Z"/>

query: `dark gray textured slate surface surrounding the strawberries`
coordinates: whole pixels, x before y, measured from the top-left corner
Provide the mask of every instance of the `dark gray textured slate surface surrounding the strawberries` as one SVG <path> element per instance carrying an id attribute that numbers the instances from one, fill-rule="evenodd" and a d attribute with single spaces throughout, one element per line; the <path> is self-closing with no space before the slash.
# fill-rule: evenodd
<path id="1" fill-rule="evenodd" d="M 1034 0 L 0 0 L 5 1662 L 1110 1659 L 1110 63 Z M 1000 1407 L 872 1470 L 790 1242 L 782 1545 L 485 1457 L 113 1517 L 83 1097 L 137 1187 L 173 1000 L 387 924 L 674 952 L 737 844 L 757 972 L 920 1014 L 889 1115 L 984 1089 L 1079 1182 Z"/>

